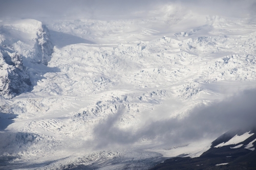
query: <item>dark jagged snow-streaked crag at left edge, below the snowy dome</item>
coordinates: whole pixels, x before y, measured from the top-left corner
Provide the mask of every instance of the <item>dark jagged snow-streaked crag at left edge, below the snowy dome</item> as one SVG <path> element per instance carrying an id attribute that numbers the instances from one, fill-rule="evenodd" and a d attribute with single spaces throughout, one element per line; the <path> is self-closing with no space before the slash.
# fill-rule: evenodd
<path id="1" fill-rule="evenodd" d="M 0 47 L 0 95 L 6 99 L 30 90 L 31 82 L 22 57 L 11 46 Z"/>

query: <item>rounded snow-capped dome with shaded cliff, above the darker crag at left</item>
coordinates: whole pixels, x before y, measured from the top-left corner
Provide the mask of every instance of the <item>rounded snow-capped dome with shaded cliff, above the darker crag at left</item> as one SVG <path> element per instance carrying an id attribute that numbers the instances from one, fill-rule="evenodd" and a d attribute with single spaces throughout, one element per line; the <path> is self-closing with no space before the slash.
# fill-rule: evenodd
<path id="1" fill-rule="evenodd" d="M 0 27 L 0 44 L 12 45 L 14 51 L 33 63 L 48 65 L 53 53 L 48 28 L 34 19 L 17 20 Z"/>

